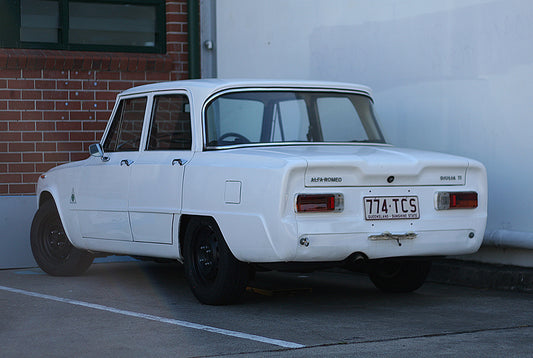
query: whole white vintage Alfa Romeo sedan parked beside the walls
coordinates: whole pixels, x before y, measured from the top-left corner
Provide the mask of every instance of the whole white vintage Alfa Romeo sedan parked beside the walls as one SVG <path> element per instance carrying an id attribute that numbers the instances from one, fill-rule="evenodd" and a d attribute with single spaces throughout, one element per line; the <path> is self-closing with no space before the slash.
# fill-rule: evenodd
<path id="1" fill-rule="evenodd" d="M 41 175 L 31 247 L 52 275 L 95 255 L 180 261 L 206 304 L 255 270 L 345 267 L 390 292 L 478 250 L 477 161 L 385 142 L 369 88 L 190 80 L 129 89 L 90 157 Z"/>

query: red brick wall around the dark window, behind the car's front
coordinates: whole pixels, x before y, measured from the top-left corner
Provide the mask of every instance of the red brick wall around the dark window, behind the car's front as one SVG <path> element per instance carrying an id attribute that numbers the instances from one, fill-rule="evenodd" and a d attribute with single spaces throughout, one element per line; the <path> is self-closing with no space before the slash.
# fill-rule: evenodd
<path id="1" fill-rule="evenodd" d="M 166 9 L 166 55 L 0 49 L 0 195 L 86 158 L 120 91 L 188 77 L 187 1 Z"/>

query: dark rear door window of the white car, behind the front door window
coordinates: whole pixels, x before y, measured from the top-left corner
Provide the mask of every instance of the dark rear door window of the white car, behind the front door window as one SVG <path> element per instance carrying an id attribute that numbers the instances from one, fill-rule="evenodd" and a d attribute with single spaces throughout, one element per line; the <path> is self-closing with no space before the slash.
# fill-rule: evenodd
<path id="1" fill-rule="evenodd" d="M 190 150 L 189 99 L 183 94 L 154 97 L 147 150 Z"/>

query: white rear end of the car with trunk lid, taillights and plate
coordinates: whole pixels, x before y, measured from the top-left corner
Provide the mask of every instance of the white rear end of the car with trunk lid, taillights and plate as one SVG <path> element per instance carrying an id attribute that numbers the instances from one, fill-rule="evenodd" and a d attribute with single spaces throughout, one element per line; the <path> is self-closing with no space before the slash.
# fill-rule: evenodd
<path id="1" fill-rule="evenodd" d="M 386 146 L 321 148 L 307 161 L 294 191 L 293 261 L 460 255 L 481 245 L 487 179 L 476 161 Z"/>

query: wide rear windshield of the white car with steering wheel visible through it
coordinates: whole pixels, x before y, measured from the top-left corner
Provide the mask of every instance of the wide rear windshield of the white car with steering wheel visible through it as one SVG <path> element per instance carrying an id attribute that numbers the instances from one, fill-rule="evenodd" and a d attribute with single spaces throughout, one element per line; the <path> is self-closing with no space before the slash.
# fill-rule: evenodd
<path id="1" fill-rule="evenodd" d="M 205 111 L 207 147 L 273 143 L 384 143 L 372 100 L 313 91 L 230 92 Z"/>

